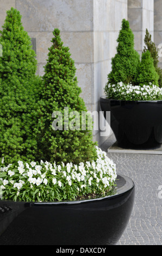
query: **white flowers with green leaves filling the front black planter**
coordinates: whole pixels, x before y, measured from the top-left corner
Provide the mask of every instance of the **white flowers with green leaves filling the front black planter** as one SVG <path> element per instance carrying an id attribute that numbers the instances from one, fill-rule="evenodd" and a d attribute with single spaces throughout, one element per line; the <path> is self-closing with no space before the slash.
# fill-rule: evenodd
<path id="1" fill-rule="evenodd" d="M 22 162 L 0 167 L 0 197 L 31 202 L 61 201 L 113 192 L 116 165 L 96 147 L 97 160 L 79 164 Z"/>

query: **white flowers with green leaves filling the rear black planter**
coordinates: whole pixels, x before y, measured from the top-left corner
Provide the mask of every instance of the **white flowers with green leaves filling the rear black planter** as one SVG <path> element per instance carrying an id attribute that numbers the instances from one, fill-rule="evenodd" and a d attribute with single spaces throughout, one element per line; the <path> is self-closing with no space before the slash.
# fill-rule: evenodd
<path id="1" fill-rule="evenodd" d="M 132 86 L 132 84 L 108 84 L 108 98 L 115 100 L 162 100 L 162 88 L 149 85 Z"/>

